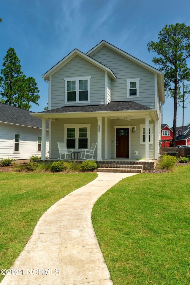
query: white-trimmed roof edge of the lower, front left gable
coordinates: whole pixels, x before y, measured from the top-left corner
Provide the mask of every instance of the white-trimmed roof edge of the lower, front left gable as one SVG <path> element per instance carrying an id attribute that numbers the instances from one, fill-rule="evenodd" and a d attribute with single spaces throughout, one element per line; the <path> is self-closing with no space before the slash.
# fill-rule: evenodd
<path id="1" fill-rule="evenodd" d="M 116 80 L 116 76 L 114 75 L 113 71 L 110 68 L 108 68 L 104 64 L 101 64 L 100 62 L 98 62 L 97 60 L 91 58 L 90 56 L 86 55 L 82 51 L 77 50 L 76 48 L 71 53 L 69 53 L 67 56 L 65 56 L 63 59 L 61 59 L 61 61 L 59 61 L 51 69 L 49 69 L 44 75 L 42 75 L 42 77 L 45 80 L 49 81 L 50 80 L 50 75 L 53 75 L 56 71 L 58 71 L 61 67 L 63 67 L 66 63 L 68 63 L 72 58 L 74 58 L 77 55 L 82 57 L 82 58 L 84 58 L 85 60 L 91 62 L 92 64 L 94 64 L 95 66 L 99 67 L 100 69 L 103 69 L 103 70 L 107 71 L 108 74 L 110 75 L 110 77 L 113 78 L 114 80 Z"/>

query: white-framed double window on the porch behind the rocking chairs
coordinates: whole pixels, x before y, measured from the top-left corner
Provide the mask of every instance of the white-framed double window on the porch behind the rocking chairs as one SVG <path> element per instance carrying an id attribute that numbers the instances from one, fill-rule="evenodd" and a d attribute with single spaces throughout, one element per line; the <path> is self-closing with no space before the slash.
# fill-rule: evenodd
<path id="1" fill-rule="evenodd" d="M 91 124 L 68 124 L 65 128 L 65 142 L 68 149 L 90 148 Z"/>

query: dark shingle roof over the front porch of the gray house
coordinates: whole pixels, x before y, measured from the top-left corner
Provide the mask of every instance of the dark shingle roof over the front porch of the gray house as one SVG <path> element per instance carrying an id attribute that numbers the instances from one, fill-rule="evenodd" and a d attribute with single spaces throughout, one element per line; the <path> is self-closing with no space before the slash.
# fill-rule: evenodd
<path id="1" fill-rule="evenodd" d="M 106 111 L 134 111 L 153 110 L 134 101 L 110 102 L 107 105 L 66 106 L 39 113 L 78 113 L 78 112 L 106 112 Z"/>

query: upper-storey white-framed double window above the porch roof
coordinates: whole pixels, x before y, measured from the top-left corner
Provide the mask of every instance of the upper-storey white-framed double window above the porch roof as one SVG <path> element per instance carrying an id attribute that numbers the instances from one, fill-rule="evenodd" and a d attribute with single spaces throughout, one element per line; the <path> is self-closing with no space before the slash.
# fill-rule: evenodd
<path id="1" fill-rule="evenodd" d="M 90 78 L 72 77 L 65 80 L 65 103 L 90 102 Z"/>

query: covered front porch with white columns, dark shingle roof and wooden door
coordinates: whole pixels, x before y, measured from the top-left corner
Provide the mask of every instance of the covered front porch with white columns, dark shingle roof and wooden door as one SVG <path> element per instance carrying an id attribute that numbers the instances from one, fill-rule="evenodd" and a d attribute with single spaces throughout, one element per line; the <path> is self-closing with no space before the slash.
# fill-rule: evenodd
<path id="1" fill-rule="evenodd" d="M 138 108 L 140 110 L 134 110 Z M 64 142 L 68 149 L 72 148 L 73 152 L 78 153 L 84 148 L 89 149 L 92 143 L 97 143 L 94 153 L 97 162 L 158 160 L 157 110 L 135 102 L 62 107 L 32 115 L 42 118 L 42 160 L 45 159 L 47 120 L 50 121 L 50 159 L 59 157 L 57 143 Z"/>

